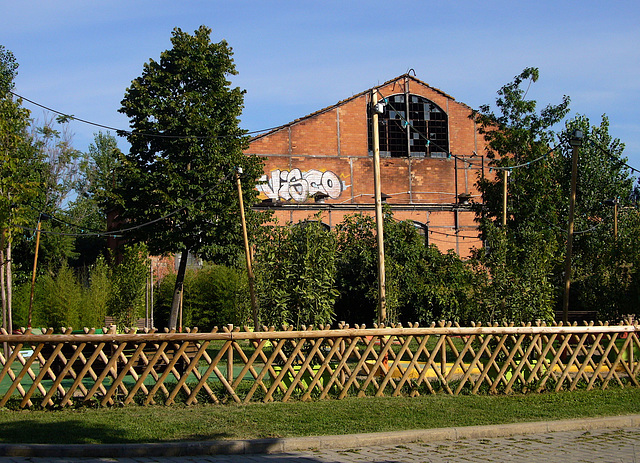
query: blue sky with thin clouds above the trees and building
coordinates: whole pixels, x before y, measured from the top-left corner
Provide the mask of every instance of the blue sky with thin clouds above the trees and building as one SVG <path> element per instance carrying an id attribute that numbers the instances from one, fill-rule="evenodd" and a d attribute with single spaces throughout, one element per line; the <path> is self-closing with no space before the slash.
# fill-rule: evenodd
<path id="1" fill-rule="evenodd" d="M 571 97 L 571 116 L 598 123 L 640 169 L 637 1 L 87 1 L 0 2 L 0 44 L 19 64 L 16 92 L 45 106 L 127 128 L 117 112 L 174 27 L 204 24 L 234 49 L 246 90 L 243 128 L 277 126 L 409 69 L 473 108 L 528 66 L 540 107 Z M 34 117 L 42 118 L 37 107 Z M 95 127 L 72 123 L 85 151 Z M 126 145 L 120 141 L 123 149 Z"/>

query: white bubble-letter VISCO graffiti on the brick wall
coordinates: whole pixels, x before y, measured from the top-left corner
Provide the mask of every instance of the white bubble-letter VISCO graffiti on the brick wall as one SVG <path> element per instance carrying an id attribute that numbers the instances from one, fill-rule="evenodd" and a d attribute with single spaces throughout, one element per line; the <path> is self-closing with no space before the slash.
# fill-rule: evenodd
<path id="1" fill-rule="evenodd" d="M 311 169 L 302 172 L 300 169 L 276 169 L 271 171 L 271 178 L 267 178 L 266 174 L 260 177 L 257 188 L 268 198 L 293 199 L 301 203 L 316 193 L 324 193 L 332 199 L 337 199 L 345 187 L 340 178 L 330 170 L 321 172 Z"/>

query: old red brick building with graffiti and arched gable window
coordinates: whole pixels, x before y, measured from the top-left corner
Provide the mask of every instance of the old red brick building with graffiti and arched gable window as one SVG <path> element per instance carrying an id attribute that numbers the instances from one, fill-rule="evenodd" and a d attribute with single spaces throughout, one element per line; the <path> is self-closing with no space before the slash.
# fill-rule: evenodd
<path id="1" fill-rule="evenodd" d="M 468 256 L 481 245 L 469 200 L 484 164 L 484 139 L 471 108 L 405 74 L 254 137 L 246 154 L 263 158 L 257 188 L 280 223 L 322 214 L 329 227 L 346 214 L 375 213 L 371 106 L 378 92 L 381 189 L 399 220 L 412 220 L 430 244 Z M 408 115 L 408 116 L 407 116 Z"/>

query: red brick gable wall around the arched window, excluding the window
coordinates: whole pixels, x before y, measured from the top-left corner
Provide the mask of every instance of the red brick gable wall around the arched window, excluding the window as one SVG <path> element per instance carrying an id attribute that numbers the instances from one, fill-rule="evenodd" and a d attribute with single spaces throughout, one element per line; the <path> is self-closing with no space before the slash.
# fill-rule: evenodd
<path id="1" fill-rule="evenodd" d="M 428 224 L 430 243 L 468 256 L 472 247 L 481 244 L 474 215 L 453 209 L 456 194 L 468 193 L 480 201 L 474 185 L 480 175 L 488 174 L 480 167 L 484 140 L 469 118 L 468 106 L 412 77 L 408 83 L 411 94 L 433 101 L 447 113 L 449 149 L 455 156 L 383 157 L 382 192 L 390 195 L 387 202 L 397 219 Z M 405 76 L 401 76 L 378 90 L 384 98 L 404 92 L 404 86 Z M 373 213 L 373 160 L 367 142 L 369 98 L 370 92 L 363 92 L 252 140 L 246 154 L 263 158 L 266 178 L 271 182 L 258 186 L 261 198 L 277 197 L 284 202 L 276 208 L 280 223 L 297 222 L 320 210 L 323 221 L 335 226 L 347 213 Z M 477 161 L 477 165 L 462 159 Z M 308 197 L 318 190 L 329 192 L 326 204 L 333 207 L 316 205 Z"/>

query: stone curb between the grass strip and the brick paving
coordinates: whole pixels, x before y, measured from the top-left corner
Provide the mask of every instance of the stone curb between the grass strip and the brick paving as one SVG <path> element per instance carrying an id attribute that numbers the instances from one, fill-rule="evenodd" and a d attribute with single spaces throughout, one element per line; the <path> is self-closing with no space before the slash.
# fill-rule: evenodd
<path id="1" fill-rule="evenodd" d="M 589 431 L 633 427 L 640 427 L 640 415 L 334 436 L 287 437 L 282 439 L 217 440 L 157 444 L 0 444 L 0 456 L 134 458 L 256 453 L 277 454 L 314 449 L 348 449 L 410 442 L 497 438 L 560 431 Z"/>

